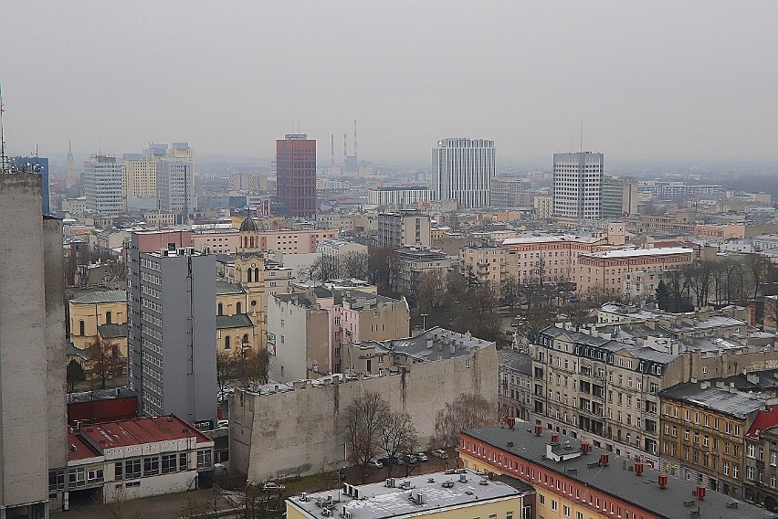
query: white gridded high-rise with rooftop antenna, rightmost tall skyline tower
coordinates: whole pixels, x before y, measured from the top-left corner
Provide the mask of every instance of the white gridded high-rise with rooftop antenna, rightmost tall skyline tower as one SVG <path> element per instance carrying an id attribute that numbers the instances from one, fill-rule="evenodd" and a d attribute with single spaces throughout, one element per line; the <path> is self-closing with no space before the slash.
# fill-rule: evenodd
<path id="1" fill-rule="evenodd" d="M 553 154 L 553 216 L 602 217 L 603 154 Z"/>

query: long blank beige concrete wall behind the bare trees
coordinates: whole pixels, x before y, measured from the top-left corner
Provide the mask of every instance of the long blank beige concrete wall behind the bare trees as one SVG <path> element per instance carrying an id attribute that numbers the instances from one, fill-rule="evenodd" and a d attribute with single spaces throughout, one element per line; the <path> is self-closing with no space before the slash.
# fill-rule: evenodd
<path id="1" fill-rule="evenodd" d="M 345 439 L 340 413 L 363 390 L 378 391 L 391 408 L 405 410 L 426 448 L 435 433 L 438 409 L 462 393 L 477 393 L 496 406 L 498 385 L 497 352 L 489 345 L 472 356 L 411 365 L 404 375 L 324 387 L 309 383 L 272 395 L 239 391 L 231 402 L 230 462 L 255 482 L 342 466 Z"/>

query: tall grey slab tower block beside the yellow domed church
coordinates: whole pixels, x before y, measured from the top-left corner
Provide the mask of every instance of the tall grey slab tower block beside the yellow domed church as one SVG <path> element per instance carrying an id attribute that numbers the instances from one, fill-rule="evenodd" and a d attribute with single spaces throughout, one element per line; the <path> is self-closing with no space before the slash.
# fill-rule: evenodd
<path id="1" fill-rule="evenodd" d="M 188 232 L 133 233 L 127 253 L 130 388 L 143 416 L 216 424 L 216 262 Z"/>

